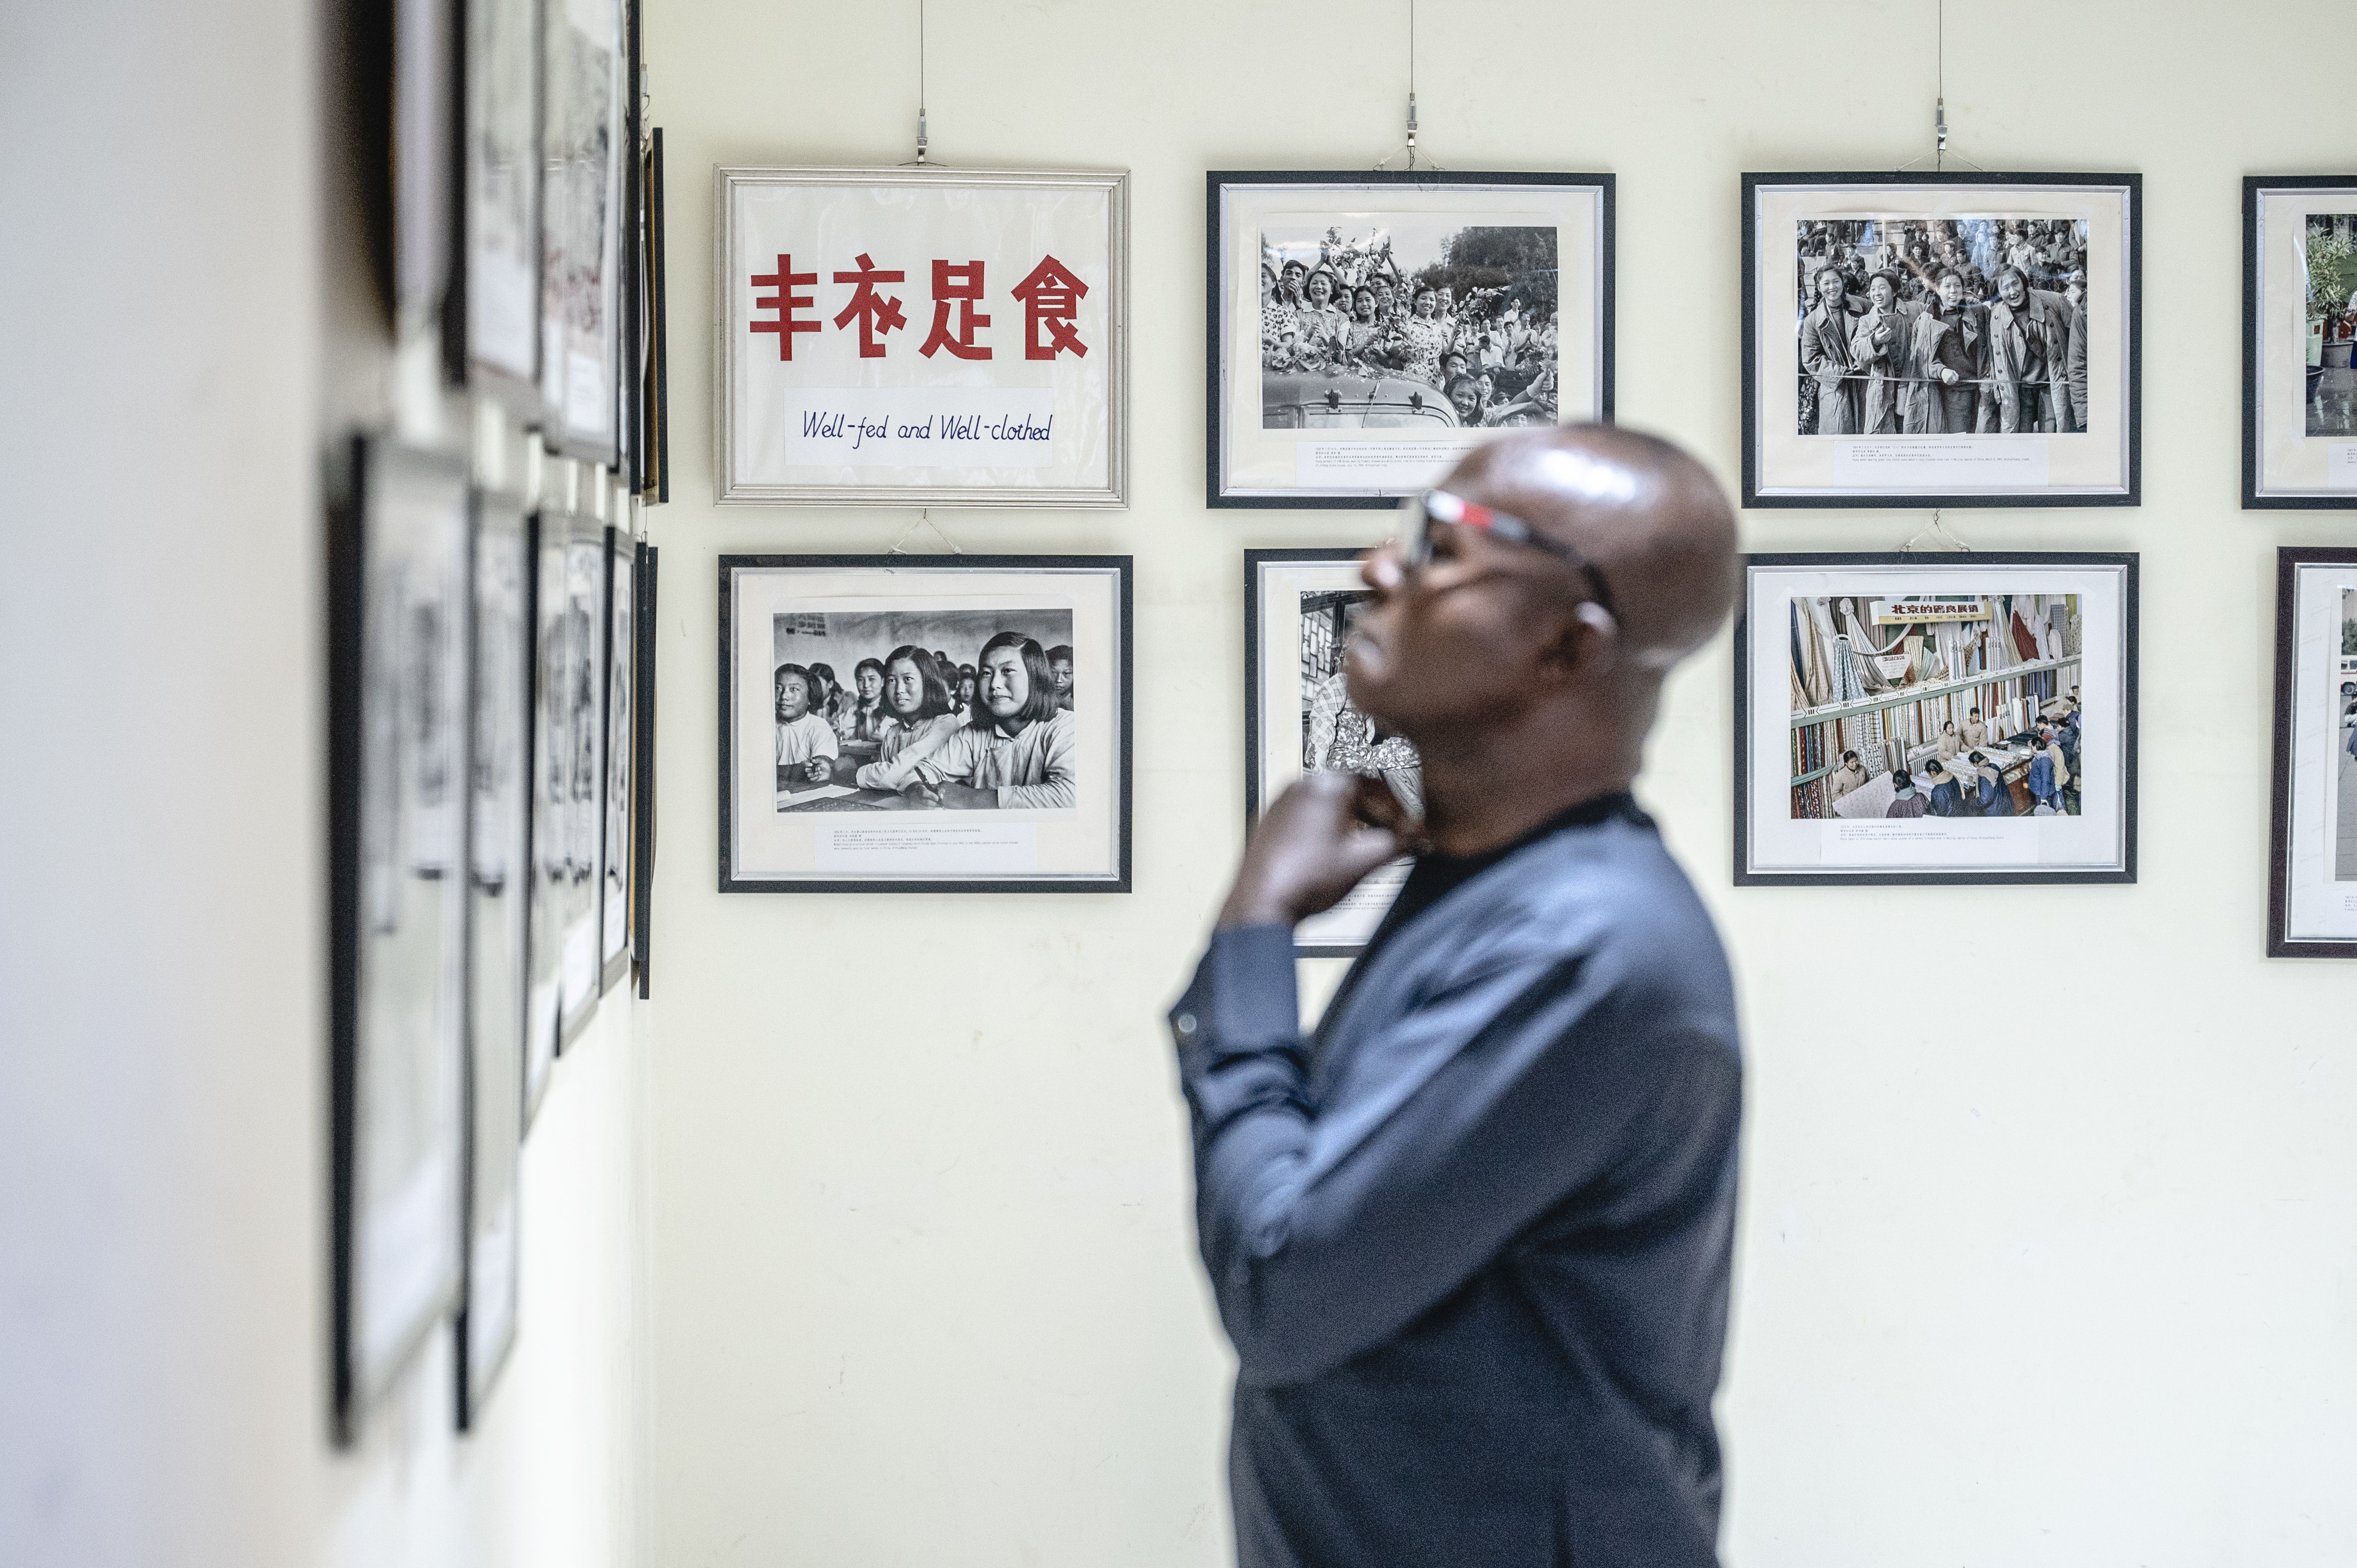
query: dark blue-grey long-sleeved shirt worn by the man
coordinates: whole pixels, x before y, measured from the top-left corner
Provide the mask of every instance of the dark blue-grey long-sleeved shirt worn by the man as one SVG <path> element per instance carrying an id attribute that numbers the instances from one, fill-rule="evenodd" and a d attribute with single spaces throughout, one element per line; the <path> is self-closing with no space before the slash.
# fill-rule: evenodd
<path id="1" fill-rule="evenodd" d="M 1652 823 L 1591 806 L 1419 863 L 1315 1040 L 1282 927 L 1171 1009 L 1240 1568 L 1718 1561 L 1735 990 Z"/>

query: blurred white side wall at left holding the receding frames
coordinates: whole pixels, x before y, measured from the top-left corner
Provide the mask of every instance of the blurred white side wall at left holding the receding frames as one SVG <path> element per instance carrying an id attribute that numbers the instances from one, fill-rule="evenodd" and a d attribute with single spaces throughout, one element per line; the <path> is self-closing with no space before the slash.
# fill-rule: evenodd
<path id="1" fill-rule="evenodd" d="M 526 1146 L 483 1427 L 438 1337 L 328 1443 L 321 455 L 445 410 L 396 396 L 316 9 L 0 12 L 7 1568 L 646 1561 L 620 993 Z"/>

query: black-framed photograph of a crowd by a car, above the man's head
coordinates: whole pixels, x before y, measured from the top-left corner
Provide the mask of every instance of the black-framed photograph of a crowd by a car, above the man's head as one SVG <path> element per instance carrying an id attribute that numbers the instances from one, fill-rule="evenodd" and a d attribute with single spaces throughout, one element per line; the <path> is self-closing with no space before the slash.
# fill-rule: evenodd
<path id="1" fill-rule="evenodd" d="M 1209 505 L 1388 507 L 1612 417 L 1612 174 L 1211 172 Z"/>

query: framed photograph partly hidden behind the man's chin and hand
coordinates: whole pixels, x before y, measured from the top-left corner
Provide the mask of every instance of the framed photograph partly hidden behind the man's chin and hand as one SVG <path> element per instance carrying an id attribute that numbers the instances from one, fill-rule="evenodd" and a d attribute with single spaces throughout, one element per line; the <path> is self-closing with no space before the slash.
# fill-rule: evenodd
<path id="1" fill-rule="evenodd" d="M 1303 773 L 1339 769 L 1381 778 L 1424 811 L 1424 764 L 1405 736 L 1351 705 L 1343 653 L 1367 601 L 1360 549 L 1244 552 L 1244 825 L 1259 825 Z M 1325 915 L 1294 927 L 1301 957 L 1355 957 L 1407 882 L 1395 861 Z"/>

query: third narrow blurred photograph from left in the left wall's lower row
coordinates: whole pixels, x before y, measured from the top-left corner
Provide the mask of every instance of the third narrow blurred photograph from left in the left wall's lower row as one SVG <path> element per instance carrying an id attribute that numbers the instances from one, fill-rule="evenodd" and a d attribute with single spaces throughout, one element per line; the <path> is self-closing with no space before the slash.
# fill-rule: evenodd
<path id="1" fill-rule="evenodd" d="M 552 507 L 533 516 L 533 750 L 530 750 L 530 915 L 526 920 L 523 993 L 523 1125 L 530 1127 L 556 1063 L 563 1012 L 566 908 L 573 877 L 566 861 L 566 818 L 573 802 L 573 667 L 566 618 L 566 554 L 570 519 Z"/>

